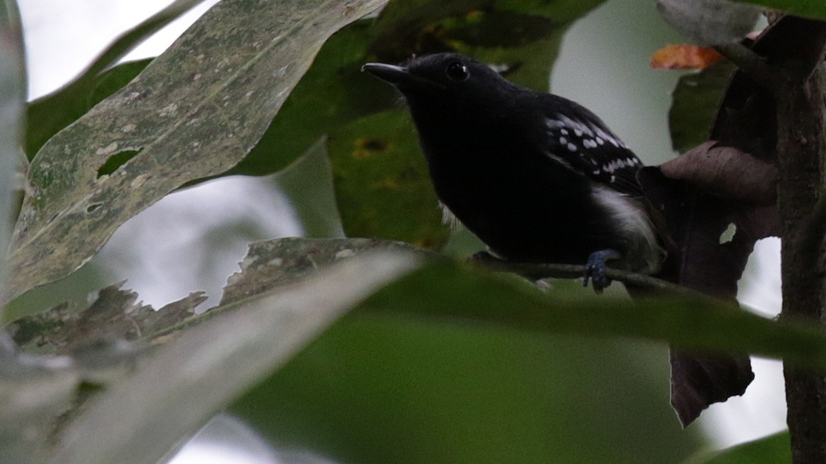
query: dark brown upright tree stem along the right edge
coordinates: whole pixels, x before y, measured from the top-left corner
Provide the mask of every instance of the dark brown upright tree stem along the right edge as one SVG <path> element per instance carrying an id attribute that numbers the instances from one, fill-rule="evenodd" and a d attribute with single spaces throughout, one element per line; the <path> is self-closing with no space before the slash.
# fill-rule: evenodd
<path id="1" fill-rule="evenodd" d="M 785 17 L 785 40 L 767 56 L 782 73 L 775 90 L 780 168 L 784 320 L 824 324 L 826 268 L 824 233 L 826 200 L 823 178 L 826 23 Z M 787 422 L 792 462 L 826 462 L 826 376 L 821 370 L 784 363 Z"/>

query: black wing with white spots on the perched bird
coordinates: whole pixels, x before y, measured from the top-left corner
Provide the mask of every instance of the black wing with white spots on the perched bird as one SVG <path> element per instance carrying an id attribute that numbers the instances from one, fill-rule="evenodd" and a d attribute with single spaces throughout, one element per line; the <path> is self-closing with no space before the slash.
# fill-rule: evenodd
<path id="1" fill-rule="evenodd" d="M 544 117 L 545 154 L 567 168 L 630 196 L 642 196 L 636 174 L 643 163 L 619 137 L 584 107 L 564 113 L 550 106 Z"/>

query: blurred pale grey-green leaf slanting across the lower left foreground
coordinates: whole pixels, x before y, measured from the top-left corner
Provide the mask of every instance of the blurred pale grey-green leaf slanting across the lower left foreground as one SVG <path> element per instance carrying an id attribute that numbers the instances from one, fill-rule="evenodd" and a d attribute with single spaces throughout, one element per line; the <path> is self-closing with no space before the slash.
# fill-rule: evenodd
<path id="1" fill-rule="evenodd" d="M 183 331 L 141 362 L 134 376 L 87 405 L 53 462 L 158 462 L 344 310 L 415 263 L 410 253 L 348 259 L 286 290 L 236 301 L 232 317 Z"/>

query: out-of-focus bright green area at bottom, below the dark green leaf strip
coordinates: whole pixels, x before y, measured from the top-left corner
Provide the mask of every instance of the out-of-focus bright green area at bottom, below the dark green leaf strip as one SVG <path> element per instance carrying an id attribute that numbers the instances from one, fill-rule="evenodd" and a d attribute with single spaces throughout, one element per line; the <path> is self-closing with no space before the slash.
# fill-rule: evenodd
<path id="1" fill-rule="evenodd" d="M 667 378 L 665 349 L 641 343 L 345 316 L 230 413 L 334 462 L 680 462 L 700 438 Z"/>

